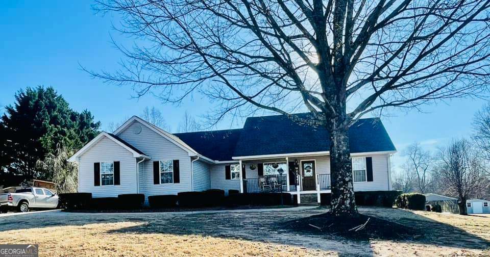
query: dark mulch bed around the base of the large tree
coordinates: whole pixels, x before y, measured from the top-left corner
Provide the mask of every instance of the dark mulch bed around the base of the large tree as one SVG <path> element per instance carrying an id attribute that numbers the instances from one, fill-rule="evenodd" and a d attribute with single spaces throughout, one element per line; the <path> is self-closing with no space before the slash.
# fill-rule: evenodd
<path id="1" fill-rule="evenodd" d="M 280 224 L 280 226 L 296 232 L 341 236 L 355 240 L 414 240 L 423 235 L 419 229 L 362 214 L 355 217 L 346 217 L 333 216 L 330 213 L 325 213 L 290 220 Z"/>

